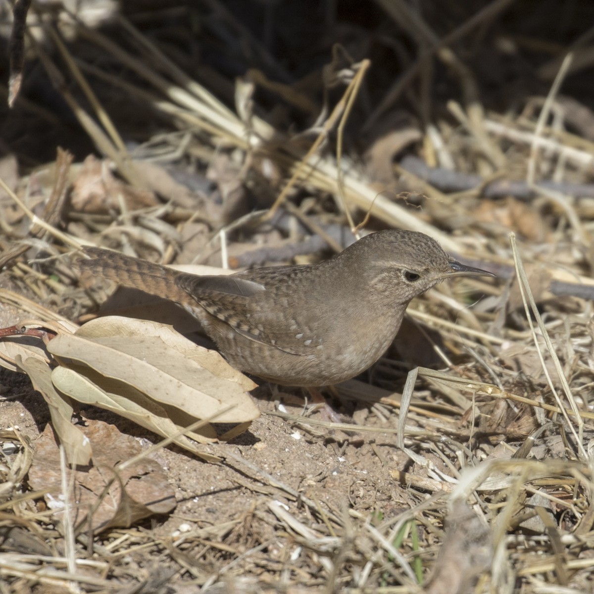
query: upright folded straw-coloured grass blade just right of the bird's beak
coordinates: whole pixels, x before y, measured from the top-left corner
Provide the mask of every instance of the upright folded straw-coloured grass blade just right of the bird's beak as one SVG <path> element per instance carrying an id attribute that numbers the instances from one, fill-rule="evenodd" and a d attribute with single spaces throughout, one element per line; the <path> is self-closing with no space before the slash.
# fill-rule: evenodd
<path id="1" fill-rule="evenodd" d="M 534 297 L 532 295 L 532 291 L 530 290 L 530 286 L 528 283 L 528 278 L 526 276 L 526 271 L 524 270 L 522 260 L 520 260 L 519 254 L 517 252 L 516 235 L 515 235 L 515 233 L 510 233 L 509 237 L 510 237 L 510 241 L 511 241 L 511 249 L 514 254 L 514 263 L 516 264 L 516 274 L 518 277 L 518 286 L 520 287 L 520 293 L 522 293 L 522 301 L 524 303 L 524 308 L 526 311 L 526 318 L 527 318 L 530 328 L 532 329 L 532 336 L 534 338 L 536 352 L 538 353 L 538 357 L 541 361 L 541 366 L 544 371 L 546 381 L 548 381 L 549 387 L 551 388 L 552 394 L 555 397 L 555 401 L 557 402 L 557 406 L 561 409 L 561 412 L 563 414 L 565 422 L 567 422 L 567 425 L 569 426 L 571 433 L 573 434 L 574 438 L 577 441 L 577 448 L 579 450 L 581 459 L 587 460 L 588 456 L 586 454 L 586 450 L 584 449 L 584 445 L 582 443 L 583 435 L 584 435 L 583 418 L 582 418 L 582 416 L 580 416 L 580 410 L 577 408 L 576 401 L 574 400 L 573 394 L 571 393 L 571 388 L 569 387 L 569 384 L 567 383 L 567 378 L 565 378 L 563 368 L 561 367 L 561 363 L 559 361 L 557 353 L 555 352 L 555 349 L 552 345 L 551 337 L 549 336 L 549 333 L 546 331 L 545 325 L 542 322 L 541 314 L 539 313 L 538 308 L 536 307 L 536 303 L 534 301 Z M 530 306 L 528 305 L 528 302 L 530 303 Z M 552 383 L 551 376 L 549 375 L 548 369 L 546 368 L 545 360 L 542 355 L 541 346 L 538 343 L 538 338 L 536 337 L 536 332 L 534 331 L 532 317 L 530 316 L 530 309 L 532 309 L 532 313 L 534 314 L 534 317 L 536 318 L 536 323 L 538 324 L 538 327 L 541 330 L 542 336 L 545 339 L 545 343 L 546 343 L 546 347 L 549 351 L 549 355 L 551 355 L 551 359 L 553 361 L 553 364 L 555 365 L 555 370 L 557 371 L 557 374 L 561 381 L 561 386 L 563 386 L 563 391 L 565 392 L 565 397 L 567 397 L 567 400 L 571 406 L 571 410 L 573 411 L 573 414 L 576 417 L 577 428 L 578 428 L 577 433 L 576 433 L 576 429 L 574 428 L 573 424 L 570 421 L 570 418 L 569 418 L 567 412 L 565 411 L 565 408 L 563 407 L 561 398 L 560 398 L 559 394 L 557 393 L 557 390 L 555 390 L 555 386 Z"/>

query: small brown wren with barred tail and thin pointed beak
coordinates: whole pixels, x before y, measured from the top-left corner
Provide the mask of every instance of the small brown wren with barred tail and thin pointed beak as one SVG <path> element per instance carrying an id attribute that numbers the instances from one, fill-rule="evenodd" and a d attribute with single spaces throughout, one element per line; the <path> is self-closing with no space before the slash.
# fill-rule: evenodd
<path id="1" fill-rule="evenodd" d="M 369 233 L 319 263 L 229 276 L 183 273 L 103 248 L 83 254 L 81 271 L 176 302 L 239 371 L 305 388 L 368 369 L 396 337 L 409 302 L 440 281 L 495 276 L 403 229 Z"/>

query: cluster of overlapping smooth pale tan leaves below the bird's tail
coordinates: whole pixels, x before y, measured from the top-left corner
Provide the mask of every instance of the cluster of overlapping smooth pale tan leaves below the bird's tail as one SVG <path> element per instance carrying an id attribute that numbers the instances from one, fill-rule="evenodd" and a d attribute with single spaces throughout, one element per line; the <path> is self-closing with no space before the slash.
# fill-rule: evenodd
<path id="1" fill-rule="evenodd" d="M 48 350 L 59 364 L 51 376 L 56 390 L 172 438 L 208 462 L 219 459 L 187 437 L 207 443 L 216 431 L 204 424 L 186 437 L 181 435 L 185 427 L 220 413 L 217 422 L 238 423 L 245 431 L 260 415 L 247 393 L 256 384 L 219 353 L 195 345 L 170 326 L 97 318 L 75 334 L 59 334 Z"/>

